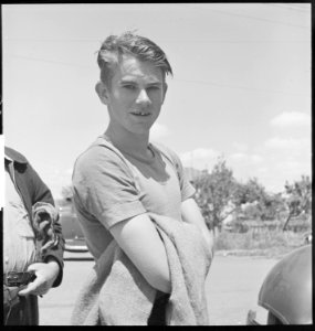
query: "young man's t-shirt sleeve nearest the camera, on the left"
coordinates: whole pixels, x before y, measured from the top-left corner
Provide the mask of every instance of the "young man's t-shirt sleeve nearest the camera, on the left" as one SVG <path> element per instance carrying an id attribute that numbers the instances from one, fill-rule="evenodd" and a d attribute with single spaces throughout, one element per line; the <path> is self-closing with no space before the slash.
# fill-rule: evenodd
<path id="1" fill-rule="evenodd" d="M 75 162 L 74 200 L 107 229 L 146 212 L 128 166 L 115 151 L 93 146 Z"/>

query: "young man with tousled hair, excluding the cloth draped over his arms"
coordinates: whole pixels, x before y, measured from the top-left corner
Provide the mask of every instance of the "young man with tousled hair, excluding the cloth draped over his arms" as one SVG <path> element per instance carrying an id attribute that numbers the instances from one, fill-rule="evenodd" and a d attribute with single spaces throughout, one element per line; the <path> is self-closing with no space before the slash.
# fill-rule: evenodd
<path id="1" fill-rule="evenodd" d="M 213 245 L 179 158 L 149 142 L 167 92 L 166 75 L 172 71 L 158 45 L 130 32 L 108 36 L 97 63 L 96 93 L 107 106 L 109 124 L 76 160 L 75 209 L 96 260 L 114 238 L 158 290 L 148 323 L 164 324 L 170 275 L 148 212 L 198 225 L 209 247 Z"/>

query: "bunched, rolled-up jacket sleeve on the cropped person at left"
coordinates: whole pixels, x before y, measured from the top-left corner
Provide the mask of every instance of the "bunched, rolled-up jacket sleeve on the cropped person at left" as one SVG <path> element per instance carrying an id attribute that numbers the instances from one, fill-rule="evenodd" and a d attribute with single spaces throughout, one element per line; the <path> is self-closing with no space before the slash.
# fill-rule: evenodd
<path id="1" fill-rule="evenodd" d="M 36 238 L 38 260 L 41 260 L 46 249 L 56 246 L 59 243 L 59 236 L 54 231 L 59 213 L 52 204 L 36 202 L 32 206 L 32 217 Z"/>

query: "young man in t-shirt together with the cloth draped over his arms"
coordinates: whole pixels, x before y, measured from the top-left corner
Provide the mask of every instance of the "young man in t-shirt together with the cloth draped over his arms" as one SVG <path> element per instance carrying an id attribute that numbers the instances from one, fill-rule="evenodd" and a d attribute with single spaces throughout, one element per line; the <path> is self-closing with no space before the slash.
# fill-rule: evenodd
<path id="1" fill-rule="evenodd" d="M 97 63 L 101 79 L 95 89 L 109 122 L 77 158 L 73 171 L 74 206 L 96 274 L 78 296 L 72 323 L 92 323 L 93 313 L 101 324 L 207 323 L 203 281 L 213 237 L 180 159 L 149 139 L 171 66 L 157 44 L 134 32 L 109 35 Z M 175 267 L 175 260 L 181 266 Z M 179 293 L 174 279 L 192 284 L 183 284 L 185 293 Z M 183 297 L 187 301 L 180 303 Z"/>

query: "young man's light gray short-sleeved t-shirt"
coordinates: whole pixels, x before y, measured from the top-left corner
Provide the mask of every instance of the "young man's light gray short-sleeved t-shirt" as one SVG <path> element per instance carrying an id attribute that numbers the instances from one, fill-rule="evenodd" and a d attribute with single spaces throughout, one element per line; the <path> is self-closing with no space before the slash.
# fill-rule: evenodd
<path id="1" fill-rule="evenodd" d="M 146 212 L 181 220 L 181 202 L 195 194 L 176 153 L 149 148 L 154 158 L 139 160 L 101 136 L 75 162 L 74 206 L 95 259 L 112 242 L 114 224 Z"/>

